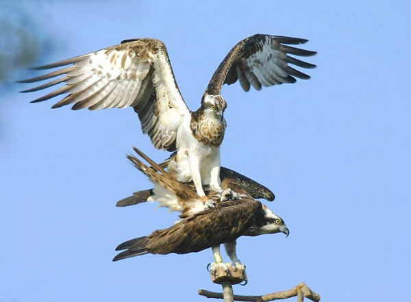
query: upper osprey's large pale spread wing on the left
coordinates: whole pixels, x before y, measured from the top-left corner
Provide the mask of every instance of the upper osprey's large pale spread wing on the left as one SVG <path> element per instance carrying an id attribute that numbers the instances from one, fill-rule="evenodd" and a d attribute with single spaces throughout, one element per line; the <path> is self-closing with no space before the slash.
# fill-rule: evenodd
<path id="1" fill-rule="evenodd" d="M 138 113 L 143 133 L 149 135 L 154 147 L 175 150 L 177 129 L 190 110 L 179 92 L 169 55 L 160 40 L 125 40 L 120 45 L 34 69 L 50 68 L 60 69 L 19 81 L 32 83 L 62 76 L 22 91 L 34 92 L 65 83 L 33 103 L 67 95 L 53 108 L 69 104 L 73 104 L 73 110 L 131 106 Z"/>

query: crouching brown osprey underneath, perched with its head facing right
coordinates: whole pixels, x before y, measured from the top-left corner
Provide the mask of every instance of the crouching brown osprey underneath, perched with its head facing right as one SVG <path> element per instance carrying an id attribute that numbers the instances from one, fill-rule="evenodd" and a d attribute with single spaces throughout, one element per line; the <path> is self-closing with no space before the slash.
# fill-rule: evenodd
<path id="1" fill-rule="evenodd" d="M 134 151 L 144 158 L 151 167 L 143 164 L 132 155 L 127 158 L 147 175 L 155 185 L 152 190 L 136 192 L 134 197 L 127 197 L 117 203 L 126 206 L 157 199 L 163 206 L 182 212 L 178 221 L 168 229 L 153 231 L 149 236 L 135 238 L 120 244 L 116 250 L 125 250 L 113 261 L 128 257 L 169 253 L 192 253 L 212 248 L 214 261 L 222 264 L 220 244 L 225 249 L 230 260 L 240 264 L 236 255 L 236 239 L 240 236 L 258 236 L 282 232 L 288 236 L 286 224 L 268 207 L 262 205 L 254 197 L 266 197 L 273 200 L 271 191 L 239 173 L 223 168 L 221 186 L 232 186 L 238 192 L 238 199 L 219 201 L 220 194 L 212 193 L 210 199 L 216 201 L 215 207 L 207 208 L 199 199 L 192 184 L 182 184 L 173 175 L 164 171 L 144 153 L 134 148 Z"/>

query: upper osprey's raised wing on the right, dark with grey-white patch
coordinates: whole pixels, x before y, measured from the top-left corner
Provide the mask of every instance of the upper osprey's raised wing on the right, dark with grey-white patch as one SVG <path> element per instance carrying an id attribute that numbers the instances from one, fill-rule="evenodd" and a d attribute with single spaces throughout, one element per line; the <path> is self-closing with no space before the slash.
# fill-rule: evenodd
<path id="1" fill-rule="evenodd" d="M 290 56 L 315 55 L 316 51 L 288 46 L 307 41 L 301 38 L 256 34 L 238 42 L 215 71 L 206 94 L 221 95 L 223 84 L 233 84 L 237 80 L 243 90 L 249 91 L 250 85 L 260 90 L 262 86 L 295 83 L 296 77 L 310 79 L 309 75 L 289 66 L 292 64 L 302 68 L 316 67 Z"/>

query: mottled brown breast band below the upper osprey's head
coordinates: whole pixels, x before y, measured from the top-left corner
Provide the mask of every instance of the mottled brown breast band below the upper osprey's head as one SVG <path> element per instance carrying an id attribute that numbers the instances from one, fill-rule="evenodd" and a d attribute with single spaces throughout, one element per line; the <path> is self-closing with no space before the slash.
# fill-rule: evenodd
<path id="1" fill-rule="evenodd" d="M 190 128 L 192 135 L 201 143 L 210 147 L 219 147 L 223 142 L 225 119 L 222 120 L 217 114 L 207 113 L 202 107 L 192 112 Z"/>

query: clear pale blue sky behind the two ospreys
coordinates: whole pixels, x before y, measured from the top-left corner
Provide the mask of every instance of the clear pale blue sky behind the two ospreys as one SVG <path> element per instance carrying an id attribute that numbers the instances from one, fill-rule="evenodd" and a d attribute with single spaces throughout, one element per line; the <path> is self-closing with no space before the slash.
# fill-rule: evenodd
<path id="1" fill-rule="evenodd" d="M 288 238 L 238 240 L 249 284 L 234 291 L 304 281 L 323 301 L 408 301 L 410 1 L 174 2 L 0 5 L 31 22 L 21 23 L 40 45 L 31 65 L 126 38 L 163 40 L 193 110 L 242 38 L 308 38 L 305 47 L 319 52 L 309 81 L 223 88 L 222 164 L 271 188 L 277 198 L 266 205 L 290 228 Z M 150 188 L 125 153 L 137 146 L 158 161 L 168 155 L 151 147 L 133 110 L 51 110 L 51 102 L 29 103 L 40 94 L 18 93 L 29 87 L 0 88 L 0 301 L 206 301 L 199 288 L 220 290 L 206 271 L 210 250 L 111 261 L 123 240 L 176 219 L 152 204 L 114 206 Z"/>

